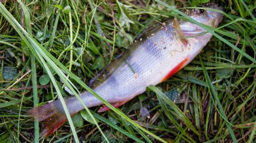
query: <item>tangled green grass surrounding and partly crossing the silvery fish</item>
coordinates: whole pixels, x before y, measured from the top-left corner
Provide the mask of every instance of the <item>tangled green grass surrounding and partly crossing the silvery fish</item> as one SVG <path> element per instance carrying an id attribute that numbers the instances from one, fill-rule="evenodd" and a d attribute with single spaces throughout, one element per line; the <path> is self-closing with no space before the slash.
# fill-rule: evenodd
<path id="1" fill-rule="evenodd" d="M 173 16 L 194 22 L 180 11 L 200 2 L 4 1 L 0 141 L 40 141 L 30 108 L 68 96 L 64 84 L 77 97 L 94 93 L 86 84 L 147 26 Z M 214 38 L 191 64 L 120 110 L 100 99 L 112 111 L 85 107 L 73 122 L 67 113 L 70 122 L 41 141 L 254 142 L 256 4 L 212 2 L 224 7 L 224 19 L 215 30 L 200 25 Z"/>

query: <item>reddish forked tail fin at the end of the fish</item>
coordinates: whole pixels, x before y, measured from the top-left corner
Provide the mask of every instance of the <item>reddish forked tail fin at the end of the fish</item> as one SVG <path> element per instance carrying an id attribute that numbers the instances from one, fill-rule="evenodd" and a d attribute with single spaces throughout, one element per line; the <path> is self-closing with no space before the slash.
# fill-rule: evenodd
<path id="1" fill-rule="evenodd" d="M 29 117 L 34 117 L 38 121 L 43 121 L 41 137 L 45 138 L 56 131 L 67 121 L 63 107 L 59 100 L 52 103 L 32 108 L 27 113 Z"/>

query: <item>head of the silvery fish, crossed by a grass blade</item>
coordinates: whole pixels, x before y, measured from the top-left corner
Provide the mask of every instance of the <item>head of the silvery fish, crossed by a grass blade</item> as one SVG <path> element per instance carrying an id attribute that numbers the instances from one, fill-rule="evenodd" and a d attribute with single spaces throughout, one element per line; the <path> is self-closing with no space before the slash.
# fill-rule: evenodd
<path id="1" fill-rule="evenodd" d="M 216 12 L 215 9 L 222 11 L 222 8 L 216 4 L 208 4 L 206 7 L 207 8 L 205 9 L 192 9 L 191 11 L 186 12 L 186 15 L 199 23 L 216 28 L 222 21 L 223 15 Z M 175 26 L 173 27 L 175 28 Z M 179 22 L 179 27 L 180 29 L 175 29 L 175 31 L 176 33 L 179 33 L 179 37 L 183 37 L 179 38 L 179 40 L 182 41 L 182 43 L 185 43 L 184 46 L 189 47 L 188 49 L 194 50 L 194 52 L 191 52 L 191 56 L 189 56 L 193 59 L 193 57 L 195 57 L 195 55 L 199 53 L 200 50 L 209 42 L 212 35 L 205 29 L 201 28 L 201 26 L 189 22 L 189 20 L 181 20 Z"/>

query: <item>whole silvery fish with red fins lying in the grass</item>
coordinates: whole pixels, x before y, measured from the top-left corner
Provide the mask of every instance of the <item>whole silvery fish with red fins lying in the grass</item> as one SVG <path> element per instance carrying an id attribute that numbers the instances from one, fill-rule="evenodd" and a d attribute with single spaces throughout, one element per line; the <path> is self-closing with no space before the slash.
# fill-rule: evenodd
<path id="1" fill-rule="evenodd" d="M 216 5 L 211 8 L 220 9 Z M 212 11 L 193 10 L 192 19 L 216 28 L 222 15 Z M 123 105 L 146 91 L 149 85 L 156 85 L 175 74 L 198 55 L 212 35 L 190 22 L 176 19 L 156 28 L 147 30 L 134 41 L 120 59 L 106 69 L 106 74 L 94 82 L 93 90 L 115 107 Z M 89 92 L 81 93 L 87 107 L 94 107 L 101 101 Z M 71 115 L 84 109 L 76 97 L 65 98 Z M 100 111 L 106 111 L 103 107 Z M 33 108 L 28 114 L 44 121 L 42 137 L 52 134 L 67 118 L 59 100 Z"/>

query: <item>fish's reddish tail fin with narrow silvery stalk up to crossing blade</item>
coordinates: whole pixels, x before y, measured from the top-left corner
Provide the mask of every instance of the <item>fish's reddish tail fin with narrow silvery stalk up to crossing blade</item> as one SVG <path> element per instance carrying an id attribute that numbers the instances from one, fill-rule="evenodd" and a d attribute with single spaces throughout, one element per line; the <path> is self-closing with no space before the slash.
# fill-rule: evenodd
<path id="1" fill-rule="evenodd" d="M 81 93 L 81 98 L 87 107 L 94 107 L 102 104 L 98 98 L 94 97 L 88 92 Z M 64 100 L 71 116 L 84 109 L 80 101 L 78 101 L 78 99 L 74 96 L 64 98 Z M 60 128 L 65 121 L 67 121 L 67 117 L 60 100 L 53 101 L 40 107 L 32 108 L 27 112 L 27 114 L 29 117 L 34 117 L 38 121 L 42 121 L 42 138 L 51 135 L 54 131 Z"/>

